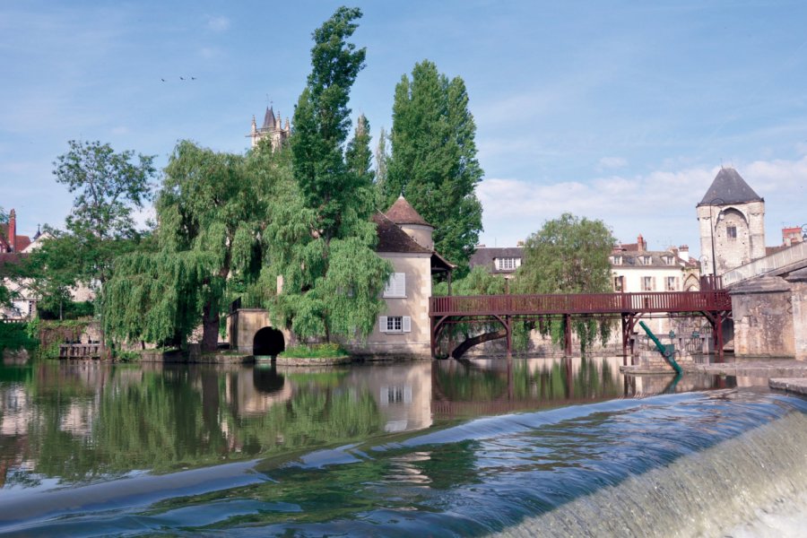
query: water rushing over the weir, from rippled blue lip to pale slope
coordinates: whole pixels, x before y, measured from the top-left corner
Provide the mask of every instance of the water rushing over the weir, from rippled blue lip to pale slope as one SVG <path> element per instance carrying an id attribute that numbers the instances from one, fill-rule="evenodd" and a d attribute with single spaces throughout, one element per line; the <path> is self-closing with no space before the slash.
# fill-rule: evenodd
<path id="1" fill-rule="evenodd" d="M 719 390 L 510 414 L 0 498 L 0 532 L 764 534 L 805 499 L 805 412 L 800 398 Z"/>

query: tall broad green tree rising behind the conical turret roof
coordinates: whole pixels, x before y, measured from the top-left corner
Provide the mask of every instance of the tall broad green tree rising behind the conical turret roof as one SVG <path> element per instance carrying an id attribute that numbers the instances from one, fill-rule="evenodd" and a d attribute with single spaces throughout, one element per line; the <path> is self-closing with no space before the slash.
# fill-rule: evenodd
<path id="1" fill-rule="evenodd" d="M 435 227 L 435 248 L 460 273 L 482 231 L 475 134 L 463 79 L 449 81 L 429 60 L 414 66 L 411 80 L 404 74 L 395 87 L 386 204 L 403 193 Z"/>

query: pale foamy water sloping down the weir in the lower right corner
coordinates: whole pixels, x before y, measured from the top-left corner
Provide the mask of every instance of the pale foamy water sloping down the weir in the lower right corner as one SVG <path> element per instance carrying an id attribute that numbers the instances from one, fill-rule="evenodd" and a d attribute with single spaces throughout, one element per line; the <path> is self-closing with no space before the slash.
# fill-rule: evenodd
<path id="1" fill-rule="evenodd" d="M 807 535 L 807 415 L 792 412 L 500 535 Z"/>

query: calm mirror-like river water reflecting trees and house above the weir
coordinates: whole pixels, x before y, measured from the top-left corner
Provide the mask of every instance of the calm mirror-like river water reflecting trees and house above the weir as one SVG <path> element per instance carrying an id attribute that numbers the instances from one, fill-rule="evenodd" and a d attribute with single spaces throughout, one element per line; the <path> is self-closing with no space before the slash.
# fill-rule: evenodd
<path id="1" fill-rule="evenodd" d="M 169 473 L 256 456 L 293 458 L 457 418 L 654 394 L 670 383 L 669 377 L 631 381 L 619 373 L 619 364 L 617 358 L 320 369 L 4 364 L 0 501 L 20 488 L 99 482 L 143 470 Z M 719 383 L 684 377 L 676 390 Z M 441 457 L 457 464 L 453 455 Z M 435 455 L 407 455 L 388 472 L 413 483 L 429 481 L 426 462 L 434 461 Z"/>

